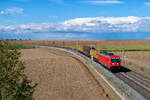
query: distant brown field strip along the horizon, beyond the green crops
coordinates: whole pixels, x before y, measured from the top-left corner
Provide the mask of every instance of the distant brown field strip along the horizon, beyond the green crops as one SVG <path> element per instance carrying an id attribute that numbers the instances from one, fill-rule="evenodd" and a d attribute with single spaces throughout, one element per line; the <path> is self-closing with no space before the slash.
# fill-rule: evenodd
<path id="1" fill-rule="evenodd" d="M 7 40 L 8 43 L 17 44 L 36 44 L 48 46 L 78 46 L 78 45 L 97 45 L 97 46 L 149 46 L 150 40 Z"/>

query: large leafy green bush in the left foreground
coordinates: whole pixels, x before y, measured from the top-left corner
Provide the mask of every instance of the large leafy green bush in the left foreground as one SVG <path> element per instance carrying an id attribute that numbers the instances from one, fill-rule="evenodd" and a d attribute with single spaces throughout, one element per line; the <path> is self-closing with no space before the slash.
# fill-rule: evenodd
<path id="1" fill-rule="evenodd" d="M 7 48 L 0 41 L 0 100 L 33 100 L 37 84 L 32 84 L 24 74 L 20 52 Z"/>

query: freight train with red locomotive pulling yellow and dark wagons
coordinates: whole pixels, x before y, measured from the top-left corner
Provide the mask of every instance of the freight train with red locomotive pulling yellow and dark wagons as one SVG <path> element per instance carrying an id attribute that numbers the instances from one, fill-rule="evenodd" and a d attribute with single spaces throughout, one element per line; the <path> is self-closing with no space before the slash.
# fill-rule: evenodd
<path id="1" fill-rule="evenodd" d="M 98 61 L 110 70 L 120 69 L 120 56 L 114 55 L 113 53 L 98 51 L 94 47 L 90 46 L 79 47 L 78 51 L 90 57 L 91 59 Z"/>

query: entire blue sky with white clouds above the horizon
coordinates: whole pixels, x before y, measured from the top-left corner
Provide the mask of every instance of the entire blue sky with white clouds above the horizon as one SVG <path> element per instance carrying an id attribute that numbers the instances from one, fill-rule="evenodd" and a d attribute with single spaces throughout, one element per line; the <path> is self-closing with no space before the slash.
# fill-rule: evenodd
<path id="1" fill-rule="evenodd" d="M 150 39 L 149 0 L 0 0 L 0 37 Z"/>

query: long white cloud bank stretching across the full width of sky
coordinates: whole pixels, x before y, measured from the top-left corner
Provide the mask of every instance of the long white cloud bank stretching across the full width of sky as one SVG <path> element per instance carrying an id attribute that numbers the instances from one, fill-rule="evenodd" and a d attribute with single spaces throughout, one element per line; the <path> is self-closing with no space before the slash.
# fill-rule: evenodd
<path id="1" fill-rule="evenodd" d="M 61 23 L 39 23 L 0 26 L 0 33 L 49 34 L 50 37 L 84 37 L 86 33 L 150 32 L 150 17 L 89 17 L 70 19 Z M 59 34 L 61 33 L 61 34 Z"/>

